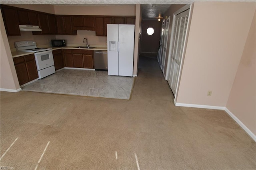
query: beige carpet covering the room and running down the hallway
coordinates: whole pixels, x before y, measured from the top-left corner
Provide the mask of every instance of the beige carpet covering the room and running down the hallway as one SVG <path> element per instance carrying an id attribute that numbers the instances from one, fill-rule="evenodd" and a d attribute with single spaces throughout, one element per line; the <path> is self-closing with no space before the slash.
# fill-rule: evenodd
<path id="1" fill-rule="evenodd" d="M 136 154 L 141 170 L 256 169 L 256 143 L 224 111 L 174 106 L 156 59 L 139 68 L 130 100 L 1 92 L 1 156 L 18 137 L 1 166 L 127 170 Z"/>

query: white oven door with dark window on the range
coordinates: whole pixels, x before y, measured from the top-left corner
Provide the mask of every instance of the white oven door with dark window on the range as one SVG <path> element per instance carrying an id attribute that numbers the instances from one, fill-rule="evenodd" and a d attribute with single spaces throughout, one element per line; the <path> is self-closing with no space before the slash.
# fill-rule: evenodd
<path id="1" fill-rule="evenodd" d="M 35 53 L 36 67 L 38 70 L 54 65 L 52 50 Z"/>

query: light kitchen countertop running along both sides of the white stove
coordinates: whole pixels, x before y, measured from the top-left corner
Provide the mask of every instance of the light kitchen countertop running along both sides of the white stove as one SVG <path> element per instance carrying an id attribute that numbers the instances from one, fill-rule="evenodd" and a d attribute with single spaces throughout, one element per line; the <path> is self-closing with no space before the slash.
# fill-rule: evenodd
<path id="1" fill-rule="evenodd" d="M 81 49 L 81 50 L 107 50 L 107 47 L 96 47 L 96 48 L 75 48 L 79 45 L 76 46 L 65 46 L 65 47 L 45 47 L 45 48 L 52 48 L 52 50 L 56 49 Z M 95 46 L 92 46 L 95 47 Z M 34 52 L 26 52 L 26 51 L 12 51 L 12 58 L 14 57 L 20 57 L 28 54 L 34 54 Z"/>

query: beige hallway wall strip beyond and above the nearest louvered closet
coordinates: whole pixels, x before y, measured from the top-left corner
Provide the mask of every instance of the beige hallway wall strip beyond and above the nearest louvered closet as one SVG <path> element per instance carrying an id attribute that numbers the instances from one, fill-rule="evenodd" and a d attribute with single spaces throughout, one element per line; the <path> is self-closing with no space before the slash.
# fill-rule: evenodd
<path id="1" fill-rule="evenodd" d="M 166 75 L 166 69 L 167 69 L 167 61 L 168 61 L 168 55 L 170 52 L 170 40 L 171 40 L 171 36 L 172 36 L 172 20 L 173 20 L 173 14 L 174 12 L 178 11 L 180 8 L 182 8 L 183 6 L 185 6 L 184 4 L 181 5 L 171 5 L 170 8 L 164 13 L 164 17 L 163 18 L 168 18 L 168 16 L 170 16 L 170 25 L 169 25 L 169 32 L 168 32 L 168 40 L 167 40 L 167 49 L 166 49 L 166 57 L 165 57 L 165 63 L 164 63 L 164 70 L 163 73 L 164 75 Z"/>

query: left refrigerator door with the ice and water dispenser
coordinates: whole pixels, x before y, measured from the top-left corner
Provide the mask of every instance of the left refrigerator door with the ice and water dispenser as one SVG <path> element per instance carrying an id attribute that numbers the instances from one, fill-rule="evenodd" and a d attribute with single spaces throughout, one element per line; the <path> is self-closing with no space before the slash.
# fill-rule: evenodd
<path id="1" fill-rule="evenodd" d="M 118 75 L 118 30 L 118 24 L 107 24 L 108 75 Z"/>

